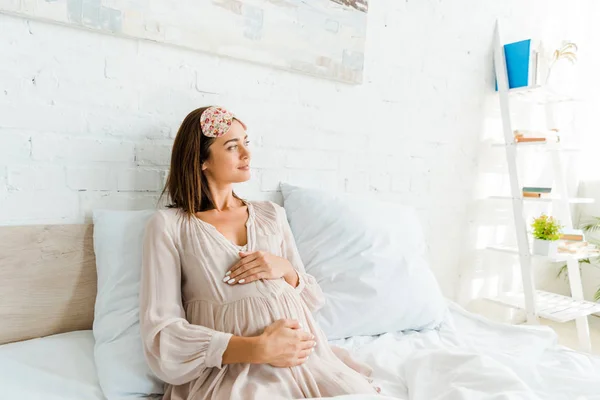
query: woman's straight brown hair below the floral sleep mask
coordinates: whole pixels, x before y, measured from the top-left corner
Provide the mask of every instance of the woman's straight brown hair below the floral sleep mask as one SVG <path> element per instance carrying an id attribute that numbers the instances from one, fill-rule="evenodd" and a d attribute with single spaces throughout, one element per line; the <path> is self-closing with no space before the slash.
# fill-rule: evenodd
<path id="1" fill-rule="evenodd" d="M 173 142 L 167 182 L 159 198 L 160 202 L 168 192 L 170 203 L 167 208 L 179 208 L 188 217 L 216 208 L 206 175 L 202 172 L 202 163 L 210 156 L 210 146 L 216 140 L 204 136 L 200 127 L 200 117 L 207 108 L 190 112 L 181 123 Z M 242 200 L 235 193 L 233 196 Z"/>

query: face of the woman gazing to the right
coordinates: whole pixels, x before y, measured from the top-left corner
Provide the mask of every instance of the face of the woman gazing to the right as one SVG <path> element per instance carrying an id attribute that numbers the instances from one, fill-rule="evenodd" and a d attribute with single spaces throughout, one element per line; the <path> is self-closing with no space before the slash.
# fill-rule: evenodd
<path id="1" fill-rule="evenodd" d="M 208 160 L 202 164 L 207 178 L 217 184 L 245 182 L 250 179 L 251 154 L 248 135 L 237 120 L 233 120 L 226 134 L 210 146 Z"/>

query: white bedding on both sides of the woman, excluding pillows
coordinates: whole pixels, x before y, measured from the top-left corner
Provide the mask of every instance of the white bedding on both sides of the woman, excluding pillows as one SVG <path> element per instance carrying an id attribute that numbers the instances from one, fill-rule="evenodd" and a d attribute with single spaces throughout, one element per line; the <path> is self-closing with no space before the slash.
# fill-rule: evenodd
<path id="1" fill-rule="evenodd" d="M 451 304 L 439 330 L 333 341 L 373 367 L 382 395 L 337 400 L 600 400 L 600 358 L 547 327 L 488 321 Z M 0 398 L 104 400 L 91 331 L 0 346 Z"/>

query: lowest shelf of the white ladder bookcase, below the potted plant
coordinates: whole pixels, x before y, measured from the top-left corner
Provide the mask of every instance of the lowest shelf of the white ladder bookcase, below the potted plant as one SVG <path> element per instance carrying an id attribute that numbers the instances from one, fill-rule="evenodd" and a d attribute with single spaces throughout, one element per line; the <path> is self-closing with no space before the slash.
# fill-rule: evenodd
<path id="1" fill-rule="evenodd" d="M 537 314 L 556 322 L 568 322 L 579 317 L 600 312 L 600 303 L 575 300 L 572 297 L 536 290 Z M 509 307 L 525 309 L 523 293 L 504 293 L 489 300 Z"/>

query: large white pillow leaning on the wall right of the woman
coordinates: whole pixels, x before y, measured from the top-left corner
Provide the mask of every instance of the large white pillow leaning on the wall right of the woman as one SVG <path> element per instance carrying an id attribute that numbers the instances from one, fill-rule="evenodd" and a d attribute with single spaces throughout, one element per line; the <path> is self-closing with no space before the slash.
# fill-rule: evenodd
<path id="1" fill-rule="evenodd" d="M 281 184 L 306 271 L 327 302 L 316 314 L 329 339 L 433 328 L 447 305 L 406 206 Z"/>

